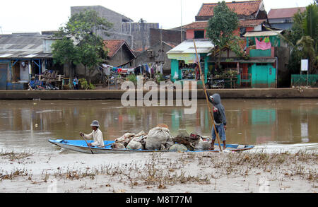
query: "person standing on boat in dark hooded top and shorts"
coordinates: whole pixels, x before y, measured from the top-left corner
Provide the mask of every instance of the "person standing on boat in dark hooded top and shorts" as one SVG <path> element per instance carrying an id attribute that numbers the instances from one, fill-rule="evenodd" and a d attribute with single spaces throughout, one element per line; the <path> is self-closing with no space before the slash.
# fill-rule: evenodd
<path id="1" fill-rule="evenodd" d="M 208 91 L 206 91 L 208 95 Z M 225 130 L 226 130 L 226 116 L 225 116 L 225 109 L 220 101 L 220 95 L 218 93 L 213 95 L 208 95 L 208 100 L 213 105 L 213 117 L 214 117 L 214 124 L 216 126 L 216 131 L 218 132 L 218 135 L 220 136 L 221 140 L 223 141 L 223 150 L 226 148 L 226 136 L 225 136 Z M 212 129 L 212 144 L 211 144 L 211 150 L 214 150 L 214 142 L 216 141 L 216 131 L 213 127 Z"/>

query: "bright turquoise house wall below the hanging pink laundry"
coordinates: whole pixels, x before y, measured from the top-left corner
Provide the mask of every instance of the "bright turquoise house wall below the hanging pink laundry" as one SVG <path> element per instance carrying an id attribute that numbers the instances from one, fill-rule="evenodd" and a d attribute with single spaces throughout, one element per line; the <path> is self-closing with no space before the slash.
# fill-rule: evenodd
<path id="1" fill-rule="evenodd" d="M 253 64 L 249 71 L 252 73 L 252 88 L 276 88 L 276 69 L 271 64 Z"/>

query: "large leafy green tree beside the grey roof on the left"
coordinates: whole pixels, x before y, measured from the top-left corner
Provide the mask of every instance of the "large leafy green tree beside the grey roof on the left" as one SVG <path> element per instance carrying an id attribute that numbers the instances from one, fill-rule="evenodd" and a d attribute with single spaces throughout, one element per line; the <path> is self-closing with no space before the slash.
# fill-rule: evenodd
<path id="1" fill-rule="evenodd" d="M 107 30 L 112 28 L 112 23 L 98 16 L 96 11 L 75 13 L 64 27 L 59 28 L 56 36 L 61 37 L 53 45 L 55 61 L 64 64 L 71 61 L 73 64 L 83 64 L 85 77 L 87 69 L 90 74 L 107 57 L 105 44 L 98 32 L 107 35 Z M 73 45 L 73 48 L 71 46 Z"/>

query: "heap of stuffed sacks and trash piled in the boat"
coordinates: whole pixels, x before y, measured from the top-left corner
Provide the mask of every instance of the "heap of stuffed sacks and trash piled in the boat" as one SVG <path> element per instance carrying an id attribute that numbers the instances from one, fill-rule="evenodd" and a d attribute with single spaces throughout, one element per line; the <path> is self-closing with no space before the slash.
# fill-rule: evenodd
<path id="1" fill-rule="evenodd" d="M 181 133 L 174 137 L 166 124 L 159 124 L 146 133 L 126 133 L 112 144 L 113 149 L 163 150 L 163 151 L 204 151 L 211 148 L 208 137 Z"/>

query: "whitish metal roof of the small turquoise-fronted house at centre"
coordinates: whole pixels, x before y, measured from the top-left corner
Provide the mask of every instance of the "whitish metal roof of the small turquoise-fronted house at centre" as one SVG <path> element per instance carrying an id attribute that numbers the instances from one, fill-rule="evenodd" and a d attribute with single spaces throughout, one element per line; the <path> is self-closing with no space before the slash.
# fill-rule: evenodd
<path id="1" fill-rule="evenodd" d="M 195 40 L 196 50 L 198 53 L 208 53 L 213 49 L 214 45 L 210 40 Z M 185 53 L 196 53 L 194 49 L 193 40 L 186 40 L 175 48 L 171 49 L 167 54 L 185 54 Z"/>

